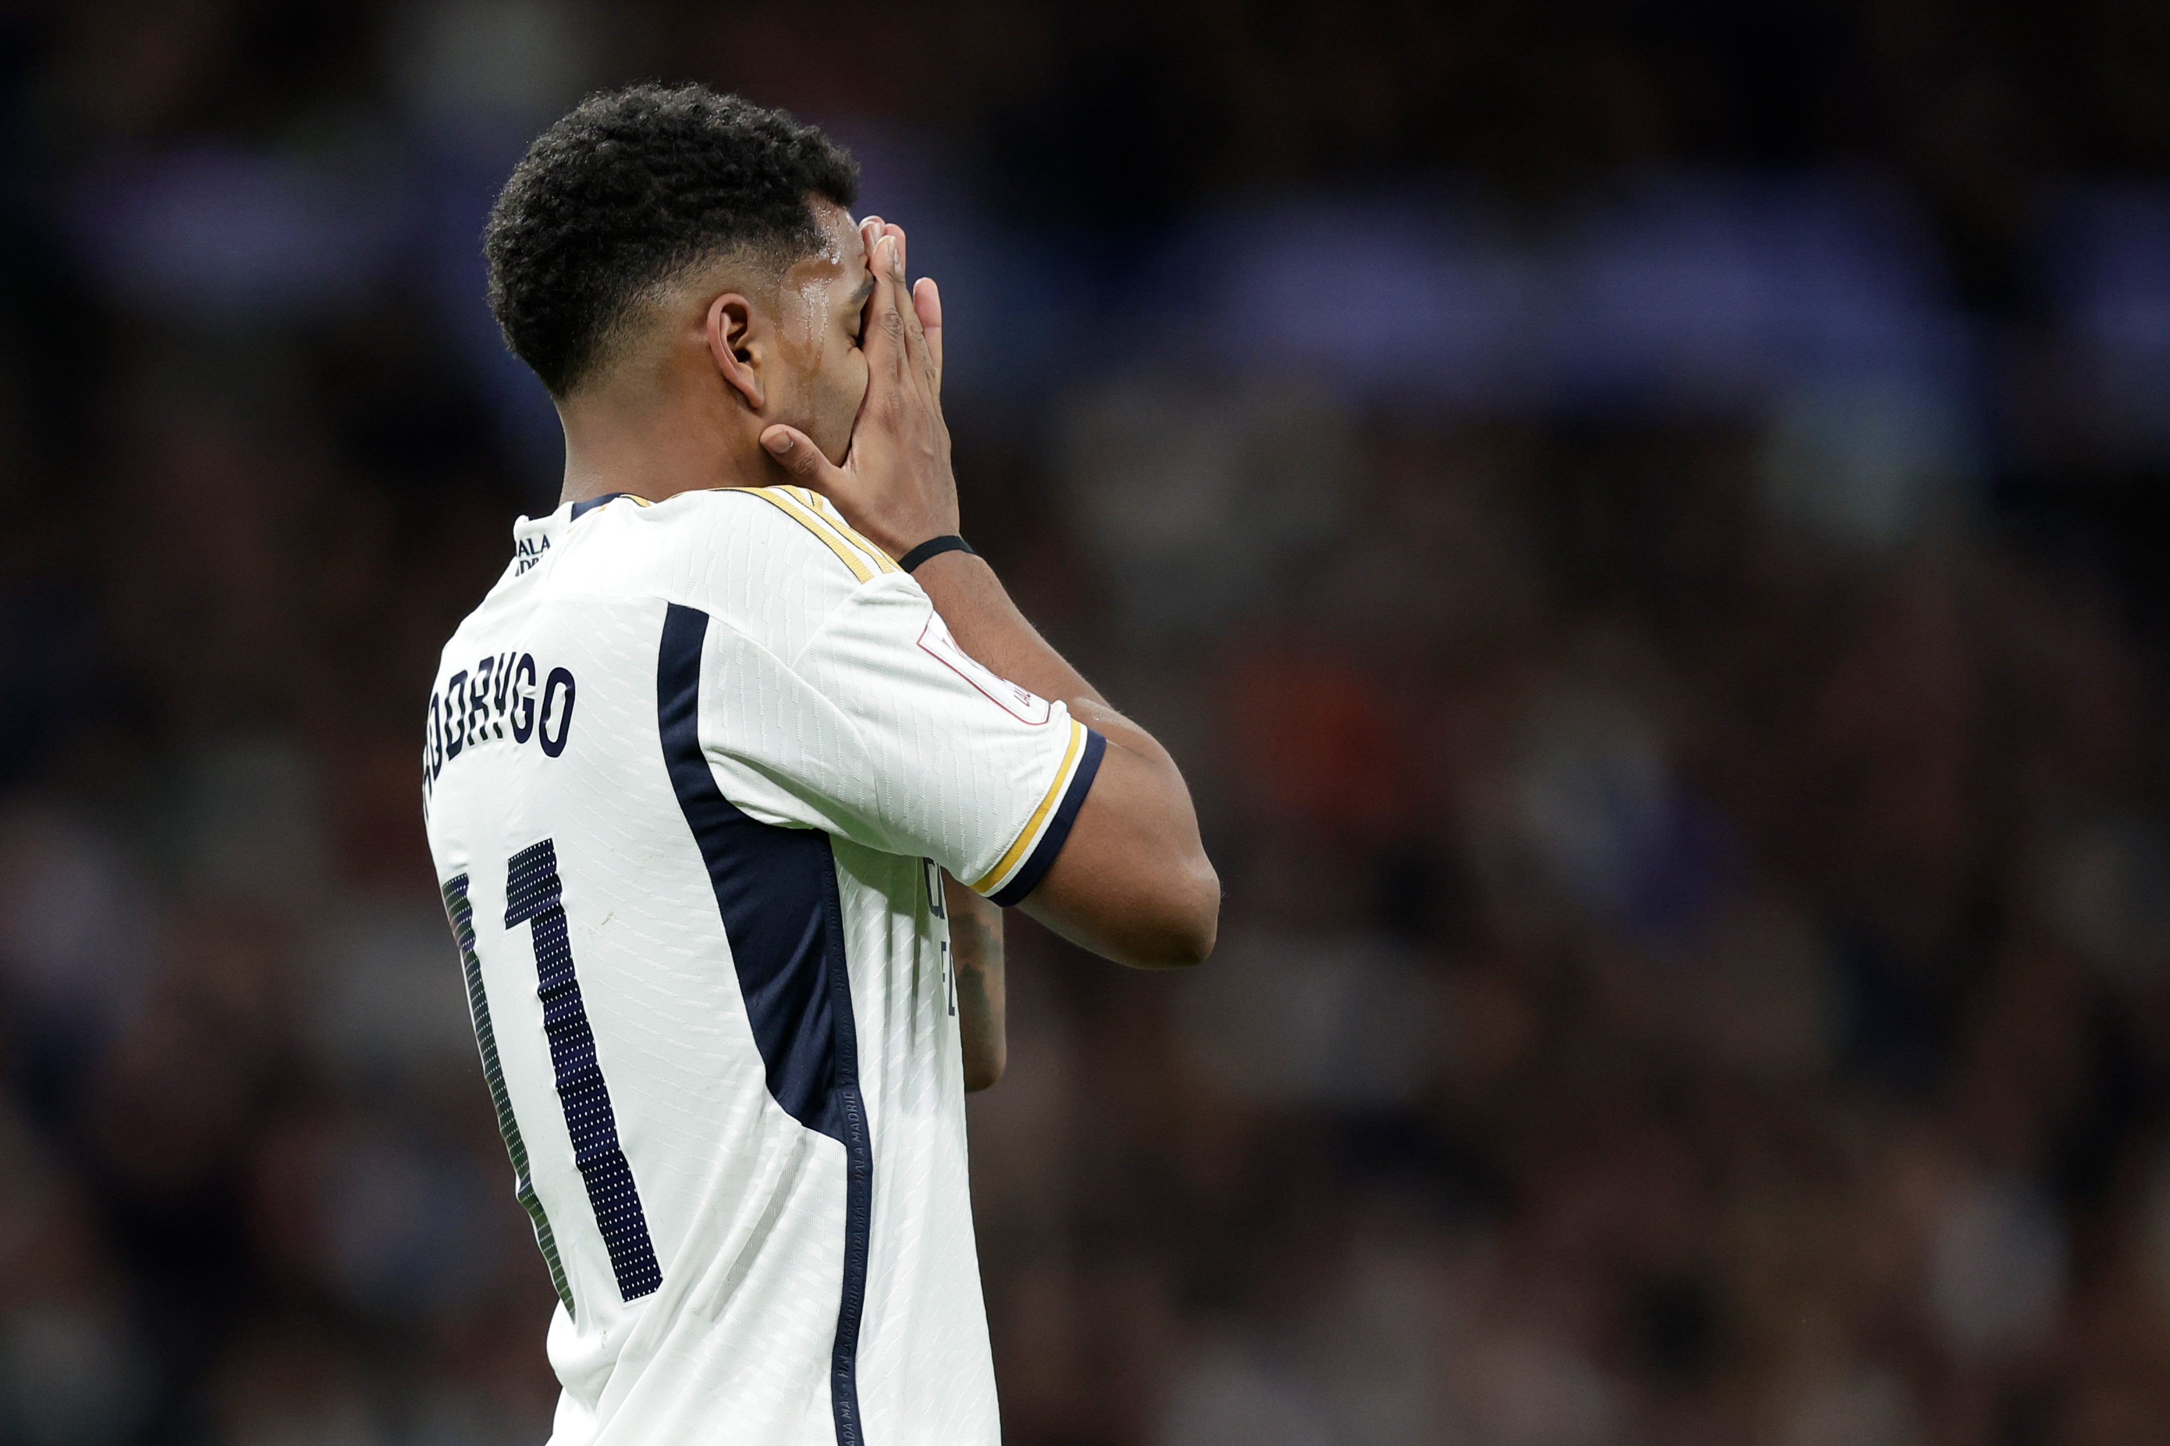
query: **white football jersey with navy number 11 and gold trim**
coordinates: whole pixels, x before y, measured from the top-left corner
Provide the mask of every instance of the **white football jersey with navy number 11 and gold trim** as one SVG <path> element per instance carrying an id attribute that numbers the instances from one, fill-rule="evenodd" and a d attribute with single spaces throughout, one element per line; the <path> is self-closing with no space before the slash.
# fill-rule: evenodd
<path id="1" fill-rule="evenodd" d="M 1100 752 L 814 492 L 521 518 L 423 791 L 553 1446 L 998 1439 L 937 865 L 1024 898 Z"/>

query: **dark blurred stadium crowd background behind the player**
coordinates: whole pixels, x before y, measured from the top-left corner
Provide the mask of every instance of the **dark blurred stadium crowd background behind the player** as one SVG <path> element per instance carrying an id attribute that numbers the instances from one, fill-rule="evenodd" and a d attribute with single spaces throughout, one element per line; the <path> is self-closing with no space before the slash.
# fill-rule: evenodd
<path id="1" fill-rule="evenodd" d="M 2170 9 L 0 2 L 0 1442 L 542 1442 L 417 767 L 584 89 L 827 124 L 1170 741 L 1016 919 L 1016 1446 L 2170 1439 Z"/>

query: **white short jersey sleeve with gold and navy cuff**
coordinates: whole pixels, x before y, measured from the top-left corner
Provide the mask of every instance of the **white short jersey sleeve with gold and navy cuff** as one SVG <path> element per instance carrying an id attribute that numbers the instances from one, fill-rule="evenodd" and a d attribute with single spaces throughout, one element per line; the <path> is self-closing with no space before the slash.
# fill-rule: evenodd
<path id="1" fill-rule="evenodd" d="M 712 622 L 701 674 L 701 746 L 736 806 L 933 858 L 998 904 L 1046 876 L 1105 750 L 968 657 L 901 572 L 859 583 L 788 659 Z"/>

